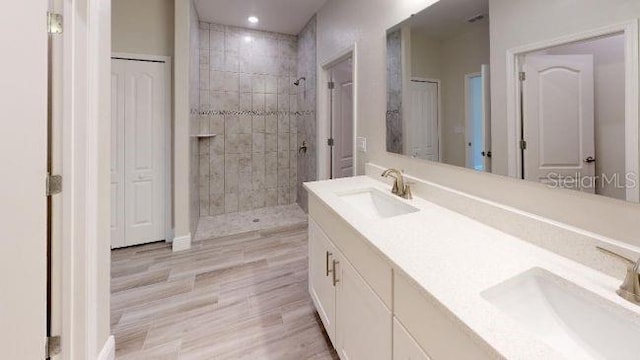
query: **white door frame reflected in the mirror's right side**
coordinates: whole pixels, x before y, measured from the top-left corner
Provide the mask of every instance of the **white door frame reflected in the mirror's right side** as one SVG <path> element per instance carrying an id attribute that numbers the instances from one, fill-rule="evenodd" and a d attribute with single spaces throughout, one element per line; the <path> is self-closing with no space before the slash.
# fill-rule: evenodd
<path id="1" fill-rule="evenodd" d="M 507 168 L 510 177 L 522 177 L 522 154 L 518 148 L 519 134 L 522 130 L 522 108 L 519 101 L 522 86 L 518 75 L 522 68 L 521 57 L 550 47 L 616 34 L 622 34 L 625 38 L 625 171 L 640 175 L 640 45 L 638 19 L 634 19 L 507 50 Z M 635 189 L 628 188 L 626 192 L 627 201 L 640 202 L 640 186 Z"/>

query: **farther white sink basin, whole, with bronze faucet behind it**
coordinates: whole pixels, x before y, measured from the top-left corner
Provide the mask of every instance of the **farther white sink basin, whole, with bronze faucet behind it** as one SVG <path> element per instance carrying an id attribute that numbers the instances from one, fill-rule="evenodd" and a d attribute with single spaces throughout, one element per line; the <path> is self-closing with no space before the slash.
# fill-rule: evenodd
<path id="1" fill-rule="evenodd" d="M 395 199 L 394 195 L 385 194 L 377 189 L 363 189 L 338 194 L 338 196 L 363 215 L 376 219 L 386 219 L 418 211 L 417 208 L 400 199 Z"/>

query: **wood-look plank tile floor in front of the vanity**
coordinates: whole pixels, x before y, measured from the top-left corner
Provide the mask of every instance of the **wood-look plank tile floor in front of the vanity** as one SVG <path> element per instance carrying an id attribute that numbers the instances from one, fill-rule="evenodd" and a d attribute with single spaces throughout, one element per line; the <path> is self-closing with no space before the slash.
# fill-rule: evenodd
<path id="1" fill-rule="evenodd" d="M 117 359 L 337 359 L 307 290 L 307 224 L 112 251 Z"/>

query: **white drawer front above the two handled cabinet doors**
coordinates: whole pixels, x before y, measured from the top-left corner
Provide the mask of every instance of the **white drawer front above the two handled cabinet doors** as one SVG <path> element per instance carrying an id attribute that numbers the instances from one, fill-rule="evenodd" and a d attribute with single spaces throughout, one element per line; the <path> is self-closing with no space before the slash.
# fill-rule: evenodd
<path id="1" fill-rule="evenodd" d="M 391 266 L 367 244 L 362 235 L 313 194 L 309 194 L 309 217 L 327 234 L 387 308 L 391 309 Z"/>

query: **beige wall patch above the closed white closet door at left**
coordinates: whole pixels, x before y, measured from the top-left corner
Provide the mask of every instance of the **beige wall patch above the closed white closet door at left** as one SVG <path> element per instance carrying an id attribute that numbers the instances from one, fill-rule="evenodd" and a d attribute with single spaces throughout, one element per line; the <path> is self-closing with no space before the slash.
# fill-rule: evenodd
<path id="1" fill-rule="evenodd" d="M 113 52 L 173 56 L 174 0 L 112 0 Z"/>

